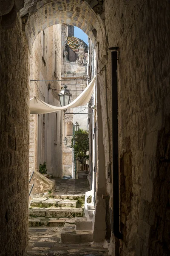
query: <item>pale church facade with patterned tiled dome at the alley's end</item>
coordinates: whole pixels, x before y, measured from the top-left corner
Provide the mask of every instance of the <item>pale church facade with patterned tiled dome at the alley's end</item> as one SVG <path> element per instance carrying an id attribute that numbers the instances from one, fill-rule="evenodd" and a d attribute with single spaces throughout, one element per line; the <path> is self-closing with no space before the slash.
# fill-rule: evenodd
<path id="1" fill-rule="evenodd" d="M 88 46 L 79 38 L 74 37 L 74 26 L 68 24 L 62 24 L 61 38 L 63 47 L 61 86 L 68 86 L 72 94 L 72 102 L 87 87 Z M 63 143 L 63 176 L 75 177 L 74 152 L 70 147 L 73 125 L 78 122 L 79 128 L 88 130 L 88 115 L 82 114 L 88 113 L 88 106 L 71 108 L 66 113 L 63 118 L 63 137 L 68 139 L 68 144 Z"/>

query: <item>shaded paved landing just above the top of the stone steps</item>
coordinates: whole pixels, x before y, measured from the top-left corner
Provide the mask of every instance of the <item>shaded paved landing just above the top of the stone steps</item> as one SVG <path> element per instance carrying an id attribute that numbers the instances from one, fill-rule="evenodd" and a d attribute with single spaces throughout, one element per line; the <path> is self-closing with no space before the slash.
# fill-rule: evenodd
<path id="1" fill-rule="evenodd" d="M 55 194 L 76 195 L 85 194 L 90 190 L 87 179 L 55 179 Z"/>

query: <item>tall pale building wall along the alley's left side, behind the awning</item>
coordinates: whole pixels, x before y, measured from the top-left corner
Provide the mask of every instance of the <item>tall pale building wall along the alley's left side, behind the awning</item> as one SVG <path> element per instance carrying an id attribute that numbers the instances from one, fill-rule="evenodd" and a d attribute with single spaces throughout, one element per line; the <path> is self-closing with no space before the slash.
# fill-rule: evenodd
<path id="1" fill-rule="evenodd" d="M 43 30 L 30 55 L 30 98 L 60 106 L 61 25 Z M 46 162 L 47 173 L 62 177 L 62 112 L 30 115 L 30 174 Z"/>

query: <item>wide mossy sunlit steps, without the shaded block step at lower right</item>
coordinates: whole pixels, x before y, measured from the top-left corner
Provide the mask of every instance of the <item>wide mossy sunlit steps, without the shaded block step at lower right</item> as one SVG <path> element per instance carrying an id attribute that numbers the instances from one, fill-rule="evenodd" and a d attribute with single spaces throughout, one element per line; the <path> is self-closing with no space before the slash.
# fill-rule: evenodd
<path id="1" fill-rule="evenodd" d="M 51 218 L 57 220 L 82 217 L 84 202 L 85 195 L 52 195 L 48 198 L 33 198 L 29 208 L 29 226 L 49 226 L 48 219 L 51 221 Z"/>

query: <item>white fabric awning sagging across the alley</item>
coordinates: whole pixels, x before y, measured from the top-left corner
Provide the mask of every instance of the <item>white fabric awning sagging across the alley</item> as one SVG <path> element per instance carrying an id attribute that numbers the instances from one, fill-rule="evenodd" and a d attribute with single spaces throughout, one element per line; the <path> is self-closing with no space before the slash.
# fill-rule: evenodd
<path id="1" fill-rule="evenodd" d="M 30 114 L 46 114 L 86 105 L 91 99 L 95 80 L 96 76 L 91 80 L 85 90 L 73 102 L 65 107 L 56 107 L 50 105 L 34 96 L 34 98 L 30 99 Z"/>

